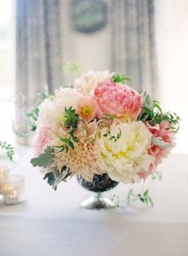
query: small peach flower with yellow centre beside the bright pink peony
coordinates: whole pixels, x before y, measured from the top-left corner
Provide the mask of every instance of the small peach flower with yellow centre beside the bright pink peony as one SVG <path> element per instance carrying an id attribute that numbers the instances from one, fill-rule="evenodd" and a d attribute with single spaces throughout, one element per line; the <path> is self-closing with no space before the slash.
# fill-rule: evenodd
<path id="1" fill-rule="evenodd" d="M 86 122 L 91 122 L 96 117 L 96 102 L 90 96 L 80 96 L 76 102 L 76 112 Z"/>

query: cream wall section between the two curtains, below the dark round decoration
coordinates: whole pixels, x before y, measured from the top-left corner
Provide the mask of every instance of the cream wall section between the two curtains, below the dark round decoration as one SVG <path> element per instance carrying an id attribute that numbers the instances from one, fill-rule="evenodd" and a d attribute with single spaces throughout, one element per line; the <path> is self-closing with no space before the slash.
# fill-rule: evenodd
<path id="1" fill-rule="evenodd" d="M 109 1 L 106 1 L 109 4 Z M 75 61 L 80 66 L 80 71 L 106 70 L 110 68 L 110 26 L 104 26 L 99 31 L 84 34 L 72 29 L 70 24 L 70 1 L 64 1 L 65 9 L 63 18 L 63 54 L 64 60 Z"/>

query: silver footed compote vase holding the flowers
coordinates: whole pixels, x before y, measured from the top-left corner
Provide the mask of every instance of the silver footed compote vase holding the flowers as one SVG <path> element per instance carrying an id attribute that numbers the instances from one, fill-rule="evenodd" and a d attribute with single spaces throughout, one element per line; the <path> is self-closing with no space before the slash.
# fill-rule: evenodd
<path id="1" fill-rule="evenodd" d="M 108 174 L 95 174 L 92 182 L 86 181 L 84 178 L 77 176 L 77 181 L 84 189 L 94 192 L 94 196 L 81 202 L 81 206 L 87 209 L 110 209 L 115 207 L 112 200 L 104 198 L 103 192 L 112 190 L 118 185 L 118 182 L 109 178 Z"/>

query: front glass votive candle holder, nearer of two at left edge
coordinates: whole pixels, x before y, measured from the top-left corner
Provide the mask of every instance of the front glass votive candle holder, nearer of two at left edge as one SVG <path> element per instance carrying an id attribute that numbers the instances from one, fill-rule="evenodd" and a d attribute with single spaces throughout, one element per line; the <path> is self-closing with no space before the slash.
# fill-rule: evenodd
<path id="1" fill-rule="evenodd" d="M 12 174 L 1 182 L 2 195 L 7 205 L 23 202 L 25 178 L 21 174 Z"/>

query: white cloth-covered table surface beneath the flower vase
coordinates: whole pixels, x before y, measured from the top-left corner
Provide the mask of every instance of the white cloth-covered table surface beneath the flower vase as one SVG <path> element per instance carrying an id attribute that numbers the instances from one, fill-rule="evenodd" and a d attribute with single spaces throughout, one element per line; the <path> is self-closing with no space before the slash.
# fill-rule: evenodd
<path id="1" fill-rule="evenodd" d="M 188 156 L 171 154 L 151 187 L 154 207 L 85 210 L 91 193 L 72 178 L 53 191 L 19 149 L 12 173 L 25 175 L 25 202 L 0 202 L 0 256 L 188 256 Z M 130 186 L 106 194 L 125 198 Z M 135 186 L 139 189 L 139 186 Z"/>

